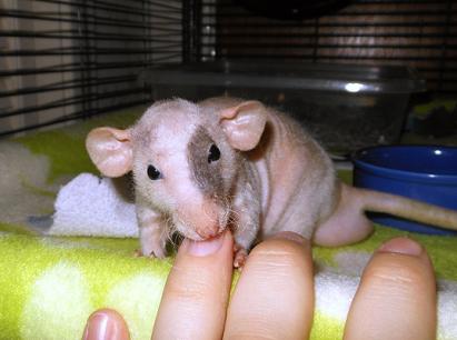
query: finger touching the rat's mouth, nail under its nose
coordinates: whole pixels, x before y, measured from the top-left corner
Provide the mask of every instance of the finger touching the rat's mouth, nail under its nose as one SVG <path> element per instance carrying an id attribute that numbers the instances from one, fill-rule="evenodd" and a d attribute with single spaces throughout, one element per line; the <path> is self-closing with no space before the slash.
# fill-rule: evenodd
<path id="1" fill-rule="evenodd" d="M 186 239 L 168 276 L 152 339 L 220 339 L 228 304 L 234 240 Z"/>

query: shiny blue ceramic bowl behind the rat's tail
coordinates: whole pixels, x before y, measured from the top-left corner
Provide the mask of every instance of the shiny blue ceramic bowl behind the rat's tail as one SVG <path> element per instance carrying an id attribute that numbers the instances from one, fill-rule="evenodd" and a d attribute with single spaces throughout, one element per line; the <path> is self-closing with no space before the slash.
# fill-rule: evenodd
<path id="1" fill-rule="evenodd" d="M 354 186 L 406 196 L 457 210 L 457 148 L 387 146 L 352 156 Z M 457 234 L 383 213 L 370 213 L 377 223 L 421 233 Z"/>

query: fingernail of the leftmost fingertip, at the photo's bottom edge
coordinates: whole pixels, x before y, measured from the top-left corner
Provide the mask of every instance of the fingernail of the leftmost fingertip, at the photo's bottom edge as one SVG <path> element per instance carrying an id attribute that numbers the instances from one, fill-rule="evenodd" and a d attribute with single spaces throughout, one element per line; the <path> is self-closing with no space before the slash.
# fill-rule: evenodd
<path id="1" fill-rule="evenodd" d="M 112 319 L 105 312 L 90 316 L 85 330 L 83 340 L 118 340 L 122 339 Z"/>

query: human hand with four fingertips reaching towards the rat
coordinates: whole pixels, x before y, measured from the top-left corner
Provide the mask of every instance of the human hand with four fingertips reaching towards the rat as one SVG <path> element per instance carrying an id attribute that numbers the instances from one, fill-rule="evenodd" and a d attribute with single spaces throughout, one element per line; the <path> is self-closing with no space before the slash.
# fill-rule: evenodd
<path id="1" fill-rule="evenodd" d="M 290 232 L 249 254 L 230 303 L 232 237 L 185 240 L 169 274 L 152 339 L 306 339 L 312 323 L 310 246 Z M 431 263 L 416 242 L 398 238 L 367 264 L 351 303 L 345 339 L 435 339 Z M 91 316 L 85 339 L 129 339 L 112 310 Z"/>

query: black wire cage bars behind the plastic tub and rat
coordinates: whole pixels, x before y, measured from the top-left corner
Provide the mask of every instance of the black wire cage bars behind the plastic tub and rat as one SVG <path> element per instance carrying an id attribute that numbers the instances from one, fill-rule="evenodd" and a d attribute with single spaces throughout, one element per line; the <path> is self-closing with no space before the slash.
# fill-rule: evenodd
<path id="1" fill-rule="evenodd" d="M 4 0 L 0 136 L 153 100 L 159 64 L 407 66 L 457 93 L 457 1 Z"/>

